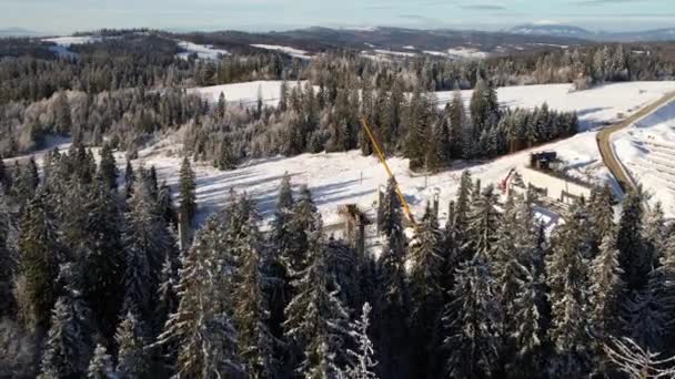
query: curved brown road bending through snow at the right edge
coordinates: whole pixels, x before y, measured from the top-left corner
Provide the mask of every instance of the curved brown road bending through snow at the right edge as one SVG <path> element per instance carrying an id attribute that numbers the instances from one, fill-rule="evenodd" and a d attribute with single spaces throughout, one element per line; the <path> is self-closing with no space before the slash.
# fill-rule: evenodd
<path id="1" fill-rule="evenodd" d="M 609 168 L 609 172 L 612 175 L 614 175 L 616 182 L 618 182 L 618 185 L 624 193 L 627 190 L 636 190 L 637 184 L 633 181 L 633 177 L 631 177 L 624 165 L 616 156 L 614 146 L 612 145 L 612 134 L 621 131 L 622 129 L 628 127 L 636 122 L 639 122 L 673 100 L 675 100 L 675 92 L 669 92 L 656 102 L 643 107 L 619 123 L 605 127 L 597 133 L 597 146 L 600 148 L 600 154 L 603 157 L 603 162 L 605 163 L 605 166 Z"/>

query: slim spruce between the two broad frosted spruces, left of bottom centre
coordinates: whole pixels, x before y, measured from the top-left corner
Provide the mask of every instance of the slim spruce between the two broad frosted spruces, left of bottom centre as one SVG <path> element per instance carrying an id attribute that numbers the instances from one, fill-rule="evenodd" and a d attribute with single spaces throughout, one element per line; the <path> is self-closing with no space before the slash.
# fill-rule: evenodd
<path id="1" fill-rule="evenodd" d="M 238 247 L 241 266 L 234 289 L 234 320 L 239 331 L 239 351 L 248 378 L 271 378 L 276 372 L 273 358 L 274 337 L 268 328 L 269 306 L 263 293 L 260 234 L 250 217 Z"/>

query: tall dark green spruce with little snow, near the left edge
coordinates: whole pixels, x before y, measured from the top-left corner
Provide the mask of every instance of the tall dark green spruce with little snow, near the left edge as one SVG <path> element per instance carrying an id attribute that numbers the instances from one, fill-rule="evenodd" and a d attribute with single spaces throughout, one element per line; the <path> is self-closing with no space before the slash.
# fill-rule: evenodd
<path id="1" fill-rule="evenodd" d="M 59 275 L 61 247 L 57 228 L 46 211 L 41 196 L 37 196 L 23 213 L 20 224 L 19 273 L 26 277 L 30 299 L 31 327 L 49 327 L 50 310 L 56 301 L 53 286 Z M 61 309 L 63 310 L 63 309 Z M 67 315 L 59 315 L 67 316 Z"/>

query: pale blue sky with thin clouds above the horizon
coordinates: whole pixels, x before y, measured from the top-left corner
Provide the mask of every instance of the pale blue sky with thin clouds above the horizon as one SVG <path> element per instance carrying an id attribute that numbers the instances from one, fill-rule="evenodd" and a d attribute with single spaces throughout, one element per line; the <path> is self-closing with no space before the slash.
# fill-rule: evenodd
<path id="1" fill-rule="evenodd" d="M 675 27 L 675 0 L 0 0 L 0 29 L 51 33 L 131 27 L 496 30 L 531 22 L 612 31 Z"/>

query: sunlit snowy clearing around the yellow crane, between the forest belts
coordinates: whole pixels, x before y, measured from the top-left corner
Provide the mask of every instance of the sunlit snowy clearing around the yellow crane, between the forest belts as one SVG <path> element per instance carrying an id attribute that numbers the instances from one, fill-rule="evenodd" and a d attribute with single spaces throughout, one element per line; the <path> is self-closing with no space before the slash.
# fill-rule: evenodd
<path id="1" fill-rule="evenodd" d="M 178 168 L 181 164 L 180 139 L 167 140 L 140 152 L 135 164 L 154 165 L 161 178 L 175 190 Z M 595 133 L 586 132 L 571 140 L 553 143 L 538 150 L 555 150 L 565 160 L 573 175 L 592 180 L 604 180 L 608 172 L 602 166 L 595 145 Z M 491 162 L 457 163 L 437 175 L 415 174 L 409 170 L 409 160 L 387 160 L 401 184 L 401 188 L 416 215 L 424 212 L 433 193 L 440 191 L 441 219 L 446 217 L 447 204 L 456 195 L 462 171 L 467 168 L 484 184 L 496 184 L 511 168 L 528 161 L 530 152 L 523 151 Z M 122 163 L 120 156 L 120 164 Z M 284 173 L 292 175 L 295 186 L 306 184 L 321 211 L 326 225 L 340 221 L 338 206 L 359 204 L 363 209 L 373 209 L 376 191 L 386 184 L 386 173 L 377 158 L 362 156 L 360 151 L 346 153 L 302 154 L 294 157 L 272 157 L 249 162 L 231 171 L 220 172 L 208 163 L 197 164 L 197 198 L 203 219 L 226 202 L 230 190 L 246 192 L 253 196 L 263 217 L 273 214 L 279 184 Z"/>

